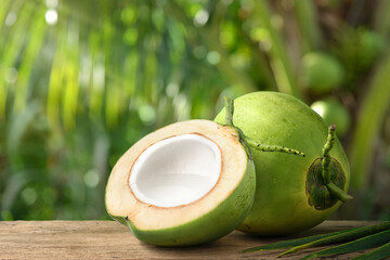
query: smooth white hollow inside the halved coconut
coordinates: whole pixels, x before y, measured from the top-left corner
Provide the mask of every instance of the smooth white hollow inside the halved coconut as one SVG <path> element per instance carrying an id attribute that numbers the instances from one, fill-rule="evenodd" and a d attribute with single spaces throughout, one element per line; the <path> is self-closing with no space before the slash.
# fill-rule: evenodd
<path id="1" fill-rule="evenodd" d="M 147 147 L 130 171 L 135 197 L 159 207 L 193 203 L 206 195 L 221 172 L 221 152 L 199 134 L 165 139 Z"/>

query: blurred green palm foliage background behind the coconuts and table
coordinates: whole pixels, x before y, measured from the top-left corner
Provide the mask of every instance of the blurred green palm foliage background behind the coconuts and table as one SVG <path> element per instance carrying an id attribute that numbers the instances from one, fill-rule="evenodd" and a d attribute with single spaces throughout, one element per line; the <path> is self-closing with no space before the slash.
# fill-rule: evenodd
<path id="1" fill-rule="evenodd" d="M 387 0 L 0 0 L 0 220 L 109 219 L 106 180 L 133 143 L 260 90 L 337 123 L 354 199 L 333 218 L 390 220 L 389 13 Z"/>

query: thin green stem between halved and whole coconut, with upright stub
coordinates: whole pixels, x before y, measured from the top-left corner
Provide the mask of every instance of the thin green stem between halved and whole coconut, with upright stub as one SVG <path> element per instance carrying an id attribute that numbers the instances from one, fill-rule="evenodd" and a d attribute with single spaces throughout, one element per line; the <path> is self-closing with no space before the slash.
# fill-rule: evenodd
<path id="1" fill-rule="evenodd" d="M 230 126 L 230 127 L 234 127 L 234 123 L 233 123 L 234 100 L 232 100 L 227 96 L 225 96 L 224 100 L 225 100 L 225 125 Z M 239 139 L 247 147 L 251 147 L 251 148 L 259 150 L 262 152 L 281 152 L 281 153 L 294 154 L 294 155 L 299 155 L 299 156 L 304 157 L 304 154 L 297 150 L 291 150 L 291 148 L 288 148 L 285 146 L 280 146 L 280 145 L 261 144 L 259 142 L 256 142 L 255 140 L 245 135 L 244 132 L 239 128 L 236 128 L 236 129 L 238 130 Z"/>

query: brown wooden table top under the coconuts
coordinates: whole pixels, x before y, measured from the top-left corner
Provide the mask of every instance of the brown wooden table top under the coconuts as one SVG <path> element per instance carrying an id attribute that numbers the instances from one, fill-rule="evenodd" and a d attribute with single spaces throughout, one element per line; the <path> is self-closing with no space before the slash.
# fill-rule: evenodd
<path id="1" fill-rule="evenodd" d="M 368 224 L 373 222 L 326 221 L 301 235 Z M 126 226 L 114 221 L 0 221 L 0 259 L 275 259 L 282 250 L 239 251 L 278 239 L 235 231 L 208 245 L 161 248 L 138 240 Z M 282 259 L 299 259 L 310 251 L 312 249 Z M 338 259 L 356 255 L 343 255 Z"/>

